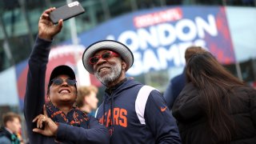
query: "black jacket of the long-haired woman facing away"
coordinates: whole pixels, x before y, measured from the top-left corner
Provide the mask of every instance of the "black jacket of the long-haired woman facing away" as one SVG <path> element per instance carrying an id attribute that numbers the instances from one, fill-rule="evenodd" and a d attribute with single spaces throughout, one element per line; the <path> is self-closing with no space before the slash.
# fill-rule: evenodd
<path id="1" fill-rule="evenodd" d="M 230 95 L 230 115 L 236 123 L 236 134 L 232 135 L 232 144 L 256 143 L 256 90 L 247 86 L 233 88 Z M 239 98 L 241 105 L 237 109 L 234 98 Z M 173 115 L 178 122 L 182 143 L 210 144 L 222 143 L 207 133 L 209 126 L 206 114 L 202 110 L 202 102 L 198 99 L 198 90 L 188 83 L 174 102 Z M 213 141 L 211 141 L 211 139 Z M 217 141 L 217 142 L 216 142 Z"/>

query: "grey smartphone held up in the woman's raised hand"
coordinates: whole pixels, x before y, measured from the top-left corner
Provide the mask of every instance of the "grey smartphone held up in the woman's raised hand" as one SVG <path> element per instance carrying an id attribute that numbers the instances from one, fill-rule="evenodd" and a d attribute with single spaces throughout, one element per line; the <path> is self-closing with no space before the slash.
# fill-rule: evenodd
<path id="1" fill-rule="evenodd" d="M 56 24 L 60 19 L 63 19 L 63 21 L 65 21 L 84 12 L 85 10 L 81 6 L 81 4 L 78 1 L 75 1 L 52 11 L 50 13 L 50 20 L 54 22 L 54 24 Z"/>

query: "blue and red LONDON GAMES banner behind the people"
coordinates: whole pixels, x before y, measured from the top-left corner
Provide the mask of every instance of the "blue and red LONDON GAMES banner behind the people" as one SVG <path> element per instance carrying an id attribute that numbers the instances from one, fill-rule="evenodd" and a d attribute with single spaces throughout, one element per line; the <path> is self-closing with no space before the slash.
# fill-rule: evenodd
<path id="1" fill-rule="evenodd" d="M 223 64 L 235 61 L 226 10 L 222 6 L 142 10 L 102 23 L 80 34 L 79 39 L 84 46 L 102 39 L 124 43 L 134 53 L 134 66 L 127 71 L 131 76 L 184 66 L 184 53 L 191 45 L 205 47 Z"/>

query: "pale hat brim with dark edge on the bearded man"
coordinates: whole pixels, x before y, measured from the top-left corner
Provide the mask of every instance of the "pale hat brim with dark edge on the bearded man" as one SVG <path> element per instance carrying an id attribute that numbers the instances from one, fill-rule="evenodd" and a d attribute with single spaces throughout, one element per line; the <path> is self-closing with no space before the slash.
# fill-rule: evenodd
<path id="1" fill-rule="evenodd" d="M 126 62 L 126 71 L 130 69 L 130 67 L 134 63 L 134 55 L 126 45 L 113 40 L 98 41 L 88 46 L 82 54 L 83 66 L 85 66 L 86 70 L 90 74 L 94 74 L 94 67 L 90 64 L 89 58 L 94 56 L 94 54 L 99 50 L 112 50 L 118 53 L 121 58 Z"/>

